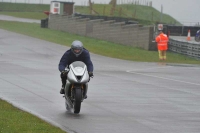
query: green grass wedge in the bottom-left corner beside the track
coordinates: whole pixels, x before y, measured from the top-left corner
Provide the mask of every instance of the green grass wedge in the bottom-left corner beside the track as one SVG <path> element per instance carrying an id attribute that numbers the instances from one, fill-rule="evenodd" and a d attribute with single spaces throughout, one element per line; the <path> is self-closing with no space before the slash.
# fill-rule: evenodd
<path id="1" fill-rule="evenodd" d="M 65 133 L 0 99 L 0 133 Z"/>

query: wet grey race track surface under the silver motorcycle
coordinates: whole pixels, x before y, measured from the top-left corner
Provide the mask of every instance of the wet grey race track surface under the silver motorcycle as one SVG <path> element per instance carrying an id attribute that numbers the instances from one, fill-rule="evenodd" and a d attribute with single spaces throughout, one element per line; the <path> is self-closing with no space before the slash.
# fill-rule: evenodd
<path id="1" fill-rule="evenodd" d="M 68 47 L 0 30 L 0 98 L 69 133 L 199 133 L 200 67 L 91 53 L 94 78 L 79 115 L 67 112 L 57 69 Z"/>

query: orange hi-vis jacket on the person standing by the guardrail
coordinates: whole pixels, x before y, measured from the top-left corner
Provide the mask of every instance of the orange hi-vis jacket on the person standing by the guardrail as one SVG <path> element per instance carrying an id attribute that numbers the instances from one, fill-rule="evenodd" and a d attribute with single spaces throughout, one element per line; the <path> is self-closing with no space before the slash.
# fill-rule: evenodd
<path id="1" fill-rule="evenodd" d="M 158 50 L 167 50 L 168 37 L 166 34 L 161 33 L 156 37 Z"/>

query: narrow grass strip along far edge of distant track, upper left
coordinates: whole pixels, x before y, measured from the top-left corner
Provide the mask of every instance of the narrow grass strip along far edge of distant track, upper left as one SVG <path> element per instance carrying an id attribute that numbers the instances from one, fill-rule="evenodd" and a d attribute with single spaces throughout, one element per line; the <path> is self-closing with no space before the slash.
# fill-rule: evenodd
<path id="1" fill-rule="evenodd" d="M 29 19 L 44 19 L 48 16 L 42 12 L 0 12 L 2 15 L 8 15 L 18 18 L 29 18 Z"/>

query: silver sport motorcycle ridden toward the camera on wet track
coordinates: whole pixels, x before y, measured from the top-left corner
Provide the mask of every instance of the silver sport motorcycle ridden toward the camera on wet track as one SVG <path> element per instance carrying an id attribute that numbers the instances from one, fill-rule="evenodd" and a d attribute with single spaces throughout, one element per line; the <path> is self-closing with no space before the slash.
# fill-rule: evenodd
<path id="1" fill-rule="evenodd" d="M 78 114 L 81 102 L 87 96 L 88 82 L 90 80 L 87 66 L 81 61 L 75 61 L 69 65 L 67 82 L 65 85 L 65 106 L 68 111 Z"/>

